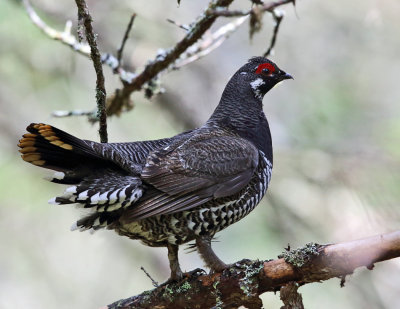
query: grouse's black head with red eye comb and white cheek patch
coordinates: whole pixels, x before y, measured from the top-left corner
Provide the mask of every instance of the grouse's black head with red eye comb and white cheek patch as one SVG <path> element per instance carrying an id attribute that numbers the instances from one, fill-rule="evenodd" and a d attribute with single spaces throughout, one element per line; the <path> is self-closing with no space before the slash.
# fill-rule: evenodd
<path id="1" fill-rule="evenodd" d="M 285 79 L 293 79 L 275 63 L 264 57 L 251 58 L 235 73 L 234 78 L 242 85 L 248 84 L 259 100 L 262 100 L 277 83 Z"/>

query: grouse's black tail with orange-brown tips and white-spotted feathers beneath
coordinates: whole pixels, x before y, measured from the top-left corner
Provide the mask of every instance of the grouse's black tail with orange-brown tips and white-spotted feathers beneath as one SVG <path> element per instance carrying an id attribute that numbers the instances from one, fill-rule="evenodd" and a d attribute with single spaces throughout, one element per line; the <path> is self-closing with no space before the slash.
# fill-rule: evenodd
<path id="1" fill-rule="evenodd" d="M 92 211 L 76 222 L 75 229 L 106 227 L 142 196 L 140 178 L 95 152 L 92 146 L 100 144 L 42 123 L 30 124 L 27 131 L 18 144 L 22 159 L 55 170 L 50 181 L 73 185 L 49 203 L 78 204 Z"/>

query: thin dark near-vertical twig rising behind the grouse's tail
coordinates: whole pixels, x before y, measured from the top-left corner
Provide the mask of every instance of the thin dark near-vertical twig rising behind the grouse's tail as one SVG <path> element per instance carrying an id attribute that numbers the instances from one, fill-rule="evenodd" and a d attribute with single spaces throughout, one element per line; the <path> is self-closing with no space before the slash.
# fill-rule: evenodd
<path id="1" fill-rule="evenodd" d="M 96 35 L 92 27 L 92 17 L 90 16 L 89 9 L 85 0 L 75 0 L 78 7 L 78 21 L 85 27 L 86 40 L 90 46 L 90 54 L 93 61 L 93 66 L 96 71 L 96 101 L 97 101 L 97 115 L 99 117 L 100 127 L 100 141 L 107 143 L 107 114 L 106 114 L 106 88 L 104 86 L 103 66 L 101 63 L 101 56 L 97 48 Z"/>

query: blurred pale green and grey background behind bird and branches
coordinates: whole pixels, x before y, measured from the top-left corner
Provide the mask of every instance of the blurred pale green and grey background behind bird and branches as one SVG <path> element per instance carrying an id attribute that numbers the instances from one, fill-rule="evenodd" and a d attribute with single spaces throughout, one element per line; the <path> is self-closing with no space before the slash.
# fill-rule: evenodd
<path id="1" fill-rule="evenodd" d="M 102 52 L 115 53 L 136 12 L 125 51 L 128 68 L 143 66 L 158 48 L 184 35 L 166 18 L 190 23 L 207 1 L 88 1 Z M 62 30 L 76 20 L 74 1 L 34 2 Z M 232 8 L 248 8 L 235 1 Z M 399 229 L 400 2 L 298 1 L 286 17 L 271 58 L 292 74 L 264 99 L 274 139 L 274 172 L 267 197 L 214 244 L 225 262 L 275 258 L 290 243 L 334 243 Z M 296 15 L 297 13 L 297 15 Z M 215 27 L 228 22 L 220 19 Z M 75 23 L 76 24 L 76 23 Z M 248 26 L 206 58 L 165 75 L 166 93 L 135 94 L 134 109 L 109 119 L 112 142 L 154 139 L 201 125 L 229 77 L 267 48 L 272 19 L 252 41 Z M 214 27 L 214 28 L 215 28 Z M 45 37 L 19 1 L 0 2 L 0 308 L 97 308 L 152 288 L 143 266 L 162 282 L 166 250 L 148 248 L 110 231 L 70 232 L 74 207 L 51 206 L 62 192 L 49 172 L 24 163 L 17 141 L 31 122 L 47 122 L 98 140 L 85 118 L 55 119 L 54 110 L 95 106 L 92 64 Z M 108 93 L 119 86 L 108 68 Z M 201 267 L 181 250 L 184 270 Z M 347 278 L 301 287 L 306 308 L 400 308 L 400 261 L 357 270 Z M 279 295 L 263 295 L 279 308 Z"/>

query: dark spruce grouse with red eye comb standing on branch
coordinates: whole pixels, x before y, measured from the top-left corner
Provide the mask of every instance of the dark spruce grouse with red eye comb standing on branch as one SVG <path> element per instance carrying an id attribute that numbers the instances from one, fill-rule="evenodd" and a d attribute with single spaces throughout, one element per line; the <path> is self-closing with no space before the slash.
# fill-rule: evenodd
<path id="1" fill-rule="evenodd" d="M 227 265 L 211 239 L 252 211 L 271 179 L 263 96 L 289 78 L 273 62 L 254 57 L 233 75 L 200 128 L 160 140 L 101 144 L 33 123 L 19 151 L 23 160 L 56 171 L 52 182 L 70 185 L 49 203 L 90 210 L 72 230 L 107 228 L 167 247 L 172 280 L 182 277 L 178 246 L 194 240 L 206 265 L 218 272 Z"/>

